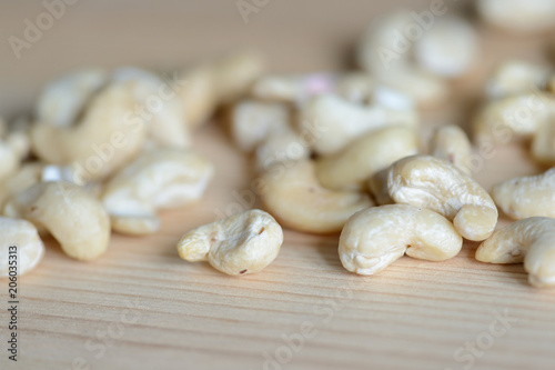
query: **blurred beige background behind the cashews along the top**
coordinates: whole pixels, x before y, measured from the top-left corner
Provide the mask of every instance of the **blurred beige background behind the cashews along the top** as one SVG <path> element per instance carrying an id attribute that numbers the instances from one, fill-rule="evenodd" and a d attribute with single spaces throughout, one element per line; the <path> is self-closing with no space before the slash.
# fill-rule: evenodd
<path id="1" fill-rule="evenodd" d="M 49 79 L 79 67 L 130 64 L 172 70 L 236 48 L 260 49 L 272 71 L 353 67 L 355 42 L 373 19 L 400 7 L 426 10 L 433 1 L 268 0 L 260 1 L 260 7 L 250 0 L 71 2 L 74 4 L 62 2 L 64 8 L 52 8 L 60 9 L 53 22 L 42 17 L 50 11 L 41 1 L 2 2 L 0 112 L 4 117 L 28 109 Z M 244 8 L 245 3 L 253 8 Z M 443 3 L 450 13 L 474 12 L 468 0 Z M 38 18 L 44 30 L 39 29 L 38 34 L 29 31 L 30 42 L 17 58 L 9 37 L 26 40 L 27 21 L 37 26 Z M 483 66 L 491 67 L 507 54 L 541 59 L 528 50 L 545 43 L 545 37 L 519 40 L 492 29 L 485 32 L 495 38 L 488 48 L 495 47 L 496 52 L 483 54 Z"/>

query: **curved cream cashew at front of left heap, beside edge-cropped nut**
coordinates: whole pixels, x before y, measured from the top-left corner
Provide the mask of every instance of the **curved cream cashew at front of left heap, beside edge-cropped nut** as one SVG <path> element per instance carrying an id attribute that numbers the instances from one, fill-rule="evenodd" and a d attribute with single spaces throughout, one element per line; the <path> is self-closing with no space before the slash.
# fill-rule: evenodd
<path id="1" fill-rule="evenodd" d="M 110 218 L 84 189 L 69 182 L 40 182 L 11 198 L 4 214 L 43 227 L 69 257 L 99 258 L 110 241 Z"/>

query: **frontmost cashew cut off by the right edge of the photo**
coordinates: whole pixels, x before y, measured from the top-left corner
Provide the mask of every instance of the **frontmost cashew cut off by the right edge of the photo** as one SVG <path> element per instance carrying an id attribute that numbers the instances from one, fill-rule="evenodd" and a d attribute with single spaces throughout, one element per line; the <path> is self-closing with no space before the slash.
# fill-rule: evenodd
<path id="1" fill-rule="evenodd" d="M 490 263 L 519 263 L 531 284 L 555 287 L 555 219 L 531 217 L 495 231 L 476 250 L 476 259 Z"/>

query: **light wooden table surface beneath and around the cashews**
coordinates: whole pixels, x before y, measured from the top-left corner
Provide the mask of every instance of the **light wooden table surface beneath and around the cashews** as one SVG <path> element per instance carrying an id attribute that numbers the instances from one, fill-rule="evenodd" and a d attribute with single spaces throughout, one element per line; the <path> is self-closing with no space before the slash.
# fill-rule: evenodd
<path id="1" fill-rule="evenodd" d="M 367 22 L 400 3 L 270 0 L 244 23 L 235 1 L 81 0 L 67 6 L 18 59 L 4 40 L 23 38 L 26 19 L 34 22 L 44 8 L 3 1 L 0 114 L 11 119 L 28 111 L 44 81 L 80 66 L 169 70 L 252 46 L 266 53 L 274 71 L 343 68 Z M 450 11 L 468 6 L 446 4 Z M 475 71 L 454 82 L 456 93 L 445 107 L 424 114 L 423 138 L 437 124 L 468 122 L 495 62 L 548 62 L 547 36 L 480 31 L 483 53 Z M 337 236 L 289 230 L 275 262 L 258 274 L 232 278 L 182 261 L 175 251 L 180 234 L 225 213 L 238 202 L 233 190 L 253 180 L 249 160 L 218 120 L 194 141 L 215 163 L 215 179 L 199 204 L 164 212 L 159 233 L 115 234 L 93 263 L 69 259 L 48 240 L 42 263 L 20 280 L 17 363 L 4 349 L 8 316 L 1 310 L 0 369 L 555 368 L 555 290 L 531 288 L 521 264 L 475 261 L 475 243 L 445 262 L 403 257 L 374 277 L 343 269 Z M 538 171 L 527 151 L 514 146 L 500 148 L 474 176 L 490 189 Z"/>

